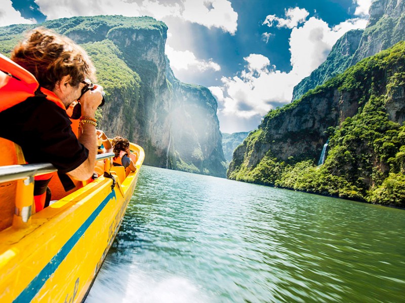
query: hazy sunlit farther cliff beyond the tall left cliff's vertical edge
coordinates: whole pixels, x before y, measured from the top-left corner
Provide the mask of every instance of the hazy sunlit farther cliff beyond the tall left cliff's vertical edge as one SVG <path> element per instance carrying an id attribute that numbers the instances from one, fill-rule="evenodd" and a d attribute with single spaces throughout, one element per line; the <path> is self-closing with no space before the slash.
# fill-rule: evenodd
<path id="1" fill-rule="evenodd" d="M 226 163 L 216 99 L 204 86 L 180 82 L 171 69 L 167 79 L 173 92 L 168 167 L 223 177 Z"/>

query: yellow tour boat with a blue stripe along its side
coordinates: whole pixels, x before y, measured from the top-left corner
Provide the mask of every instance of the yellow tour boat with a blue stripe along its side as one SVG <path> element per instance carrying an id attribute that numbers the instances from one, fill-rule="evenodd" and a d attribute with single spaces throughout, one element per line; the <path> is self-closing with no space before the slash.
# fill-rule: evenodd
<path id="1" fill-rule="evenodd" d="M 130 149 L 138 156 L 136 172 L 126 176 L 124 167 L 112 167 L 113 153 L 98 155 L 98 163 L 115 177 L 114 186 L 111 178 L 100 176 L 35 214 L 31 214 L 33 176 L 55 168 L 50 164 L 0 167 L 0 207 L 5 210 L 0 212 L 0 230 L 2 224 L 4 228 L 0 231 L 0 302 L 81 302 L 86 298 L 123 220 L 144 160 L 142 147 L 131 143 Z M 17 150 L 20 162 L 21 154 Z M 13 184 L 14 214 L 5 218 L 10 206 L 4 205 L 1 191 L 7 186 L 12 189 Z M 11 226 L 5 226 L 7 220 Z"/>

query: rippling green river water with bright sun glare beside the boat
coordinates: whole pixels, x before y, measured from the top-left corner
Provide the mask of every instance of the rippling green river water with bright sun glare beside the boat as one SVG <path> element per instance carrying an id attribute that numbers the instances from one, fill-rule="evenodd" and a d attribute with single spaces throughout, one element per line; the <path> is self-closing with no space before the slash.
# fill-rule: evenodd
<path id="1" fill-rule="evenodd" d="M 152 167 L 86 302 L 404 301 L 405 211 Z"/>

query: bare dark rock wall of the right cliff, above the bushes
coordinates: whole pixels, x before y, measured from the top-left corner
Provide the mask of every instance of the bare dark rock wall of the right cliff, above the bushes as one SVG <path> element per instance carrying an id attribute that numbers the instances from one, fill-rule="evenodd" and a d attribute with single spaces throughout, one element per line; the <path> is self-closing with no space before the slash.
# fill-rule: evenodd
<path id="1" fill-rule="evenodd" d="M 270 111 L 250 134 L 251 141 L 248 137 L 235 150 L 228 177 L 240 167 L 256 167 L 268 153 L 280 162 L 316 160 L 328 138 L 328 127 L 353 116 L 357 107 L 353 96 L 332 89 L 304 96 L 299 104 L 282 108 L 284 111 Z"/>

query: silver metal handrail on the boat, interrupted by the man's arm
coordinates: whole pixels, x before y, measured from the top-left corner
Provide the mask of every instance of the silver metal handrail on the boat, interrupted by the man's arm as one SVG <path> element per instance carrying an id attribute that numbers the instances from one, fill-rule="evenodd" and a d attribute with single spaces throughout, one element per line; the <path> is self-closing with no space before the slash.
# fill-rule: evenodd
<path id="1" fill-rule="evenodd" d="M 96 161 L 112 158 L 114 156 L 114 153 L 100 154 L 96 156 Z M 50 163 L 0 166 L 0 183 L 44 175 L 56 171 L 57 169 Z"/>

